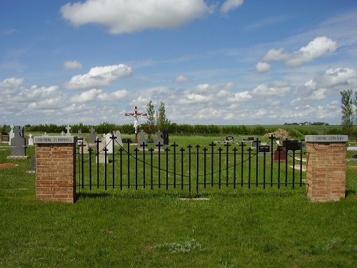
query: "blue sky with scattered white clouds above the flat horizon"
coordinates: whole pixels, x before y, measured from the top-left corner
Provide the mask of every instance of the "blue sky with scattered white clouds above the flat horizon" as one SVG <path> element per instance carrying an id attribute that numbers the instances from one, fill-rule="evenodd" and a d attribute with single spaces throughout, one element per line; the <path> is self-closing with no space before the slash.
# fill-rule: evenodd
<path id="1" fill-rule="evenodd" d="M 0 0 L 0 124 L 341 124 L 356 59 L 356 0 Z"/>

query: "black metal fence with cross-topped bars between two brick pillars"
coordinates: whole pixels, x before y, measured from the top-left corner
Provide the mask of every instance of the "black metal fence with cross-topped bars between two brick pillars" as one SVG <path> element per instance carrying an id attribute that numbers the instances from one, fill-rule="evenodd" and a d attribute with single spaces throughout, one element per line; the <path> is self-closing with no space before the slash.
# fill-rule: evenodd
<path id="1" fill-rule="evenodd" d="M 301 142 L 283 146 L 271 137 L 269 144 L 226 142 L 179 147 L 164 144 L 119 146 L 114 135 L 111 148 L 79 145 L 76 186 L 84 189 L 178 189 L 196 192 L 222 188 L 301 187 L 305 177 Z M 274 147 L 276 149 L 274 149 Z M 108 153 L 108 151 L 111 153 Z"/>

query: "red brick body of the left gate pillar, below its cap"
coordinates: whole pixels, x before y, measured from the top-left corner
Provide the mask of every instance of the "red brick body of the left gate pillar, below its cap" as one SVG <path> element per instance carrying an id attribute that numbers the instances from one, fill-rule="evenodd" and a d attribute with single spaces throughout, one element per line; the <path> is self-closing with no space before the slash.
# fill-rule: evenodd
<path id="1" fill-rule="evenodd" d="M 74 143 L 37 144 L 37 199 L 66 203 L 76 202 L 75 160 Z"/>

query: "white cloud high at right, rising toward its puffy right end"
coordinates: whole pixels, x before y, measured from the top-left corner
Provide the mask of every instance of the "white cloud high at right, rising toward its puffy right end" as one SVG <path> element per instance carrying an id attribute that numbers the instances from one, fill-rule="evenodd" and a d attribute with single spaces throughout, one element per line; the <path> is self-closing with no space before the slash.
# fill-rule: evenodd
<path id="1" fill-rule="evenodd" d="M 336 51 L 337 43 L 326 36 L 318 36 L 307 46 L 301 47 L 298 51 L 289 53 L 284 49 L 270 49 L 263 57 L 264 61 L 285 61 L 288 66 L 296 67 L 312 61 L 320 56 Z"/>

